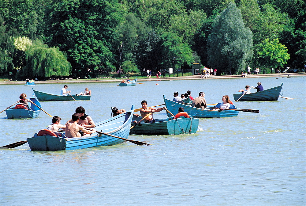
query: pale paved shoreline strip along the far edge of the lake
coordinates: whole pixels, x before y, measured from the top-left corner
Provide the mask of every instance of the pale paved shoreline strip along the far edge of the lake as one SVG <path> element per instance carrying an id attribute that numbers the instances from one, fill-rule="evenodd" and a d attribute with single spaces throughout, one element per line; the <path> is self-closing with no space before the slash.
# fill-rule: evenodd
<path id="1" fill-rule="evenodd" d="M 212 75 L 207 78 L 202 78 L 202 80 L 208 79 L 230 79 L 230 78 L 259 78 L 259 77 L 275 77 L 275 78 L 294 78 L 294 77 L 306 77 L 306 73 L 280 73 L 280 74 L 251 74 L 246 77 L 240 77 L 240 75 Z M 124 78 L 125 79 L 125 78 Z M 147 81 L 170 81 L 170 80 L 201 80 L 200 75 L 184 76 L 184 77 L 165 77 L 165 78 L 151 78 L 151 79 L 138 79 L 137 82 L 147 82 Z M 117 82 L 120 83 L 122 79 L 88 79 L 88 80 L 76 80 L 76 79 L 62 79 L 62 80 L 45 80 L 45 81 L 35 81 L 35 84 L 68 84 L 68 83 L 103 83 L 103 82 Z M 0 82 L 0 85 L 16 85 L 25 84 L 25 81 L 4 81 Z M 33 85 L 32 85 L 33 86 Z"/>

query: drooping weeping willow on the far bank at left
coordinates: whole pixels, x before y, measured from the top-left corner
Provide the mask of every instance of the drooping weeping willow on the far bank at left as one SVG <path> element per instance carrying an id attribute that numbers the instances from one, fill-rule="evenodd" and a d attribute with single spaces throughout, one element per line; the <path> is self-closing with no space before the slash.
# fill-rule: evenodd
<path id="1" fill-rule="evenodd" d="M 25 52 L 26 66 L 22 75 L 27 77 L 69 76 L 71 64 L 57 47 L 48 48 L 46 44 L 36 42 Z"/>

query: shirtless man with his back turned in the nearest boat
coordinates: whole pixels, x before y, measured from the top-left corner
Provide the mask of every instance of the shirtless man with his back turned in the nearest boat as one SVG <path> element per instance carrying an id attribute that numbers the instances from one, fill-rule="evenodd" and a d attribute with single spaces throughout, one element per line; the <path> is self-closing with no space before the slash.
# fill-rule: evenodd
<path id="1" fill-rule="evenodd" d="M 90 136 L 90 134 L 93 134 L 96 131 L 95 129 L 92 129 L 92 131 L 85 129 L 80 124 L 78 124 L 80 120 L 80 115 L 78 113 L 74 113 L 72 115 L 71 120 L 72 122 L 68 122 L 66 124 L 66 132 L 65 132 L 66 137 L 81 137 L 81 134 L 79 131 L 84 132 L 84 134 L 86 135 L 83 135 L 83 137 L 85 137 L 85 136 Z"/>

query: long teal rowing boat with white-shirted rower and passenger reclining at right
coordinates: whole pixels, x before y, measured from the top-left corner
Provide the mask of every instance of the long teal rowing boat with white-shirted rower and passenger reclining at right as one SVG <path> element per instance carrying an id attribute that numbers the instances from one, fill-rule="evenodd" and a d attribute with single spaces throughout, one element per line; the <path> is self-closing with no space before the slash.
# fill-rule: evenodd
<path id="1" fill-rule="evenodd" d="M 34 90 L 32 88 L 33 92 L 35 93 L 37 99 L 39 101 L 71 101 L 71 100 L 90 100 L 91 95 L 72 95 L 73 97 L 69 96 L 64 96 L 64 95 L 58 95 L 58 94 L 52 94 L 52 93 L 47 93 L 47 92 L 41 92 Z M 74 98 L 74 99 L 73 99 Z"/>

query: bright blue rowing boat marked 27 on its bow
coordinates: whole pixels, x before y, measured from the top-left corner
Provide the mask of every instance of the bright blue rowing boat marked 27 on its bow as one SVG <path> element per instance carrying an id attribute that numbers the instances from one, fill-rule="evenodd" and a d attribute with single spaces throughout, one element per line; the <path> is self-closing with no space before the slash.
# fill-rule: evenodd
<path id="1" fill-rule="evenodd" d="M 185 109 L 185 112 L 187 112 L 189 115 L 193 116 L 194 118 L 230 117 L 230 116 L 237 116 L 239 113 L 239 111 L 237 110 L 219 110 L 219 109 L 210 109 L 210 108 L 200 109 L 192 107 L 191 105 L 186 105 L 166 99 L 165 95 L 163 95 L 163 98 L 166 108 L 174 115 L 178 113 L 178 108 L 180 107 L 183 107 Z M 234 105 L 232 105 L 232 108 L 237 109 Z"/>

